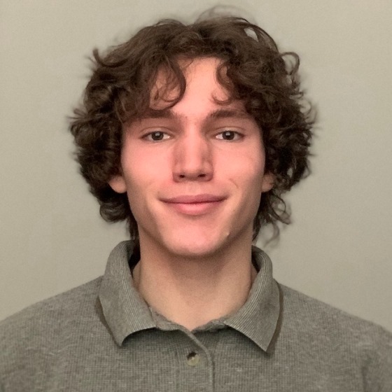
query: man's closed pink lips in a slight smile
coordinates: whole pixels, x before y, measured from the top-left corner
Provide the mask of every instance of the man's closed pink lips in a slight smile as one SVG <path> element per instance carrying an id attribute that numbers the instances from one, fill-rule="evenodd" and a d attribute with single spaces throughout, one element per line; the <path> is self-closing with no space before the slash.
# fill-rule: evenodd
<path id="1" fill-rule="evenodd" d="M 162 200 L 169 208 L 180 214 L 198 216 L 206 215 L 221 206 L 225 197 L 218 195 L 181 195 Z"/>

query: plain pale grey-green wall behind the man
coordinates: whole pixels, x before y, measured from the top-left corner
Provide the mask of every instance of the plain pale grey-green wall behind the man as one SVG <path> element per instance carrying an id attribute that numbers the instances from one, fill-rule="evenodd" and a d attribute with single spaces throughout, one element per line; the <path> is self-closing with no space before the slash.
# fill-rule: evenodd
<path id="1" fill-rule="evenodd" d="M 191 22 L 214 5 L 0 2 L 0 318 L 101 275 L 126 238 L 124 225 L 99 217 L 67 131 L 92 48 L 160 18 Z M 313 173 L 287 197 L 293 224 L 265 248 L 276 279 L 392 330 L 392 3 L 245 0 L 241 8 L 281 50 L 299 53 L 318 107 Z"/>

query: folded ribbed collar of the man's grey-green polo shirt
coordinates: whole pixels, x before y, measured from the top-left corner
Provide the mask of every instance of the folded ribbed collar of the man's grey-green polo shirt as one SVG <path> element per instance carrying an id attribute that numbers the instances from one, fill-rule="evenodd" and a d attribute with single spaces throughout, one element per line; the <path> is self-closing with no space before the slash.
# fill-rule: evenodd
<path id="1" fill-rule="evenodd" d="M 99 288 L 104 317 L 118 345 L 141 330 L 185 330 L 155 313 L 134 287 L 128 264 L 133 248 L 132 241 L 123 241 L 113 249 Z M 258 275 L 245 304 L 235 314 L 213 320 L 193 332 L 228 326 L 251 339 L 260 349 L 268 350 L 280 314 L 279 287 L 272 277 L 272 262 L 266 253 L 253 246 L 252 261 Z"/>

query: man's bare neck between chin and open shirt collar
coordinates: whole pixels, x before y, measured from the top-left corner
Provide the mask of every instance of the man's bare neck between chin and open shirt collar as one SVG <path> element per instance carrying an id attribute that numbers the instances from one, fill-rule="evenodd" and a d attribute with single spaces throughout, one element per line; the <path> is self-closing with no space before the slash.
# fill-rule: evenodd
<path id="1" fill-rule="evenodd" d="M 209 258 L 170 258 L 141 247 L 134 285 L 144 300 L 170 321 L 193 330 L 237 311 L 257 275 L 251 246 Z"/>

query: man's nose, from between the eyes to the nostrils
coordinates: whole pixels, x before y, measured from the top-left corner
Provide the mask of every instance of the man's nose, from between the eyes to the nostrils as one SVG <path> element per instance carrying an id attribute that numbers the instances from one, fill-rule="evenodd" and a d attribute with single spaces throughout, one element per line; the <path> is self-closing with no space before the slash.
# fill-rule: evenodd
<path id="1" fill-rule="evenodd" d="M 184 134 L 174 146 L 174 181 L 209 181 L 214 173 L 212 147 L 207 137 Z"/>

